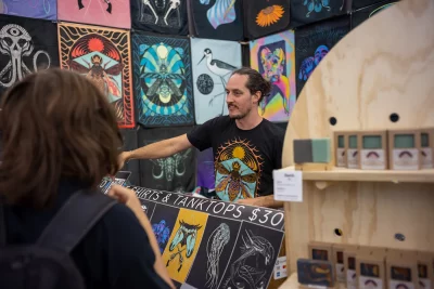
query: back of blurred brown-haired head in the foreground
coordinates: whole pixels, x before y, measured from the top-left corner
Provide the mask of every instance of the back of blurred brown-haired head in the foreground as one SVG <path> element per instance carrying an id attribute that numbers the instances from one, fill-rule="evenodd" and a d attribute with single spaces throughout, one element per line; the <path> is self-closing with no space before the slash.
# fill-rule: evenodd
<path id="1" fill-rule="evenodd" d="M 122 137 L 106 97 L 85 77 L 59 68 L 15 83 L 0 101 L 0 194 L 41 208 L 61 179 L 93 188 L 118 170 Z"/>

